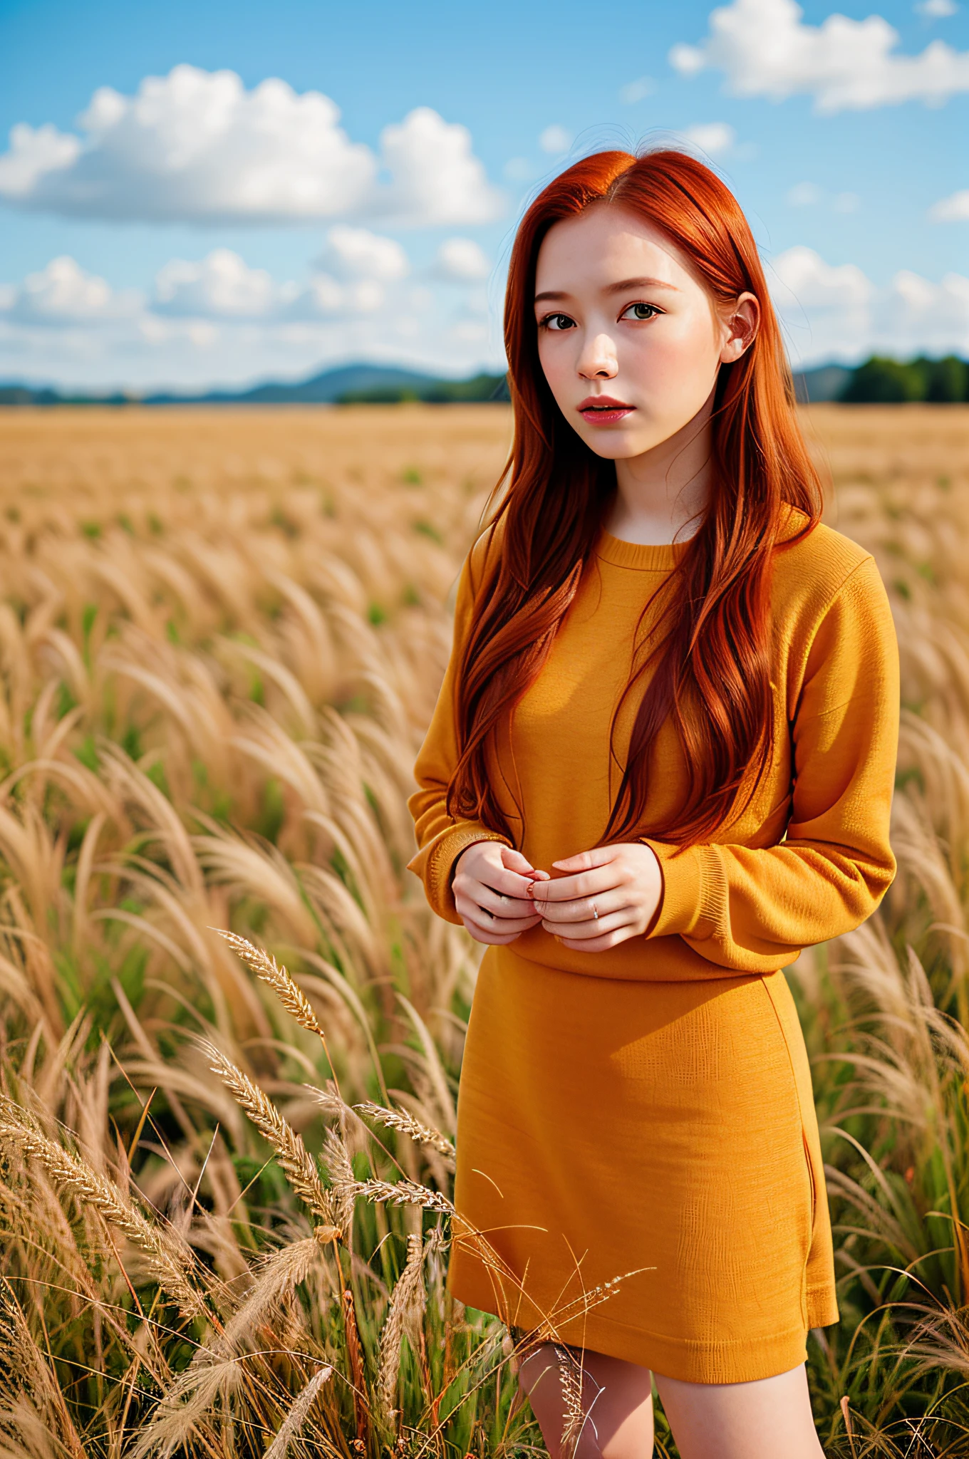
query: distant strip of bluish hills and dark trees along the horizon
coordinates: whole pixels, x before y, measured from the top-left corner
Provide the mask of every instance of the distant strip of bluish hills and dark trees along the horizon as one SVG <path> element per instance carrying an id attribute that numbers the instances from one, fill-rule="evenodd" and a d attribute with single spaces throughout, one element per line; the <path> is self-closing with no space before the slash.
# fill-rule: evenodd
<path id="1" fill-rule="evenodd" d="M 822 365 L 794 375 L 800 401 L 842 400 L 886 404 L 914 400 L 937 403 L 969 400 L 969 365 L 950 355 L 941 360 L 909 363 L 873 356 L 864 365 Z M 334 406 L 391 404 L 423 400 L 432 404 L 508 400 L 503 375 L 473 375 L 445 379 L 393 365 L 353 363 L 321 371 L 302 381 L 267 381 L 250 390 L 210 390 L 200 394 L 174 391 L 150 395 L 115 392 L 85 395 L 48 387 L 0 385 L 0 406 Z"/>

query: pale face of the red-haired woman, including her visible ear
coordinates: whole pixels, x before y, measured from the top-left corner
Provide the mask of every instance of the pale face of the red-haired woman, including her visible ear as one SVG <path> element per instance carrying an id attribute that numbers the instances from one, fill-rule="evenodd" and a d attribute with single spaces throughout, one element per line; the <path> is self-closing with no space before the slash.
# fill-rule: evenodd
<path id="1" fill-rule="evenodd" d="M 556 403 L 600 457 L 642 455 L 686 426 L 757 325 L 753 295 L 717 308 L 658 229 L 595 203 L 555 223 L 536 271 L 538 357 Z"/>

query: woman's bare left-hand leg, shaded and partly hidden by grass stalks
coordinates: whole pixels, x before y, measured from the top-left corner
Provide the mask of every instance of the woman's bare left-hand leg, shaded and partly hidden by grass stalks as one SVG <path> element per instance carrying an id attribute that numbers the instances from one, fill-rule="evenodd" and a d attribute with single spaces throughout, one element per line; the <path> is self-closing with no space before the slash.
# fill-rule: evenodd
<path id="1" fill-rule="evenodd" d="M 572 1350 L 582 1360 L 582 1411 L 578 1443 L 562 1444 L 565 1399 L 555 1347 L 543 1342 L 518 1370 L 550 1459 L 649 1459 L 652 1453 L 652 1379 L 649 1369 L 603 1352 Z M 576 1374 L 578 1376 L 578 1374 Z"/>

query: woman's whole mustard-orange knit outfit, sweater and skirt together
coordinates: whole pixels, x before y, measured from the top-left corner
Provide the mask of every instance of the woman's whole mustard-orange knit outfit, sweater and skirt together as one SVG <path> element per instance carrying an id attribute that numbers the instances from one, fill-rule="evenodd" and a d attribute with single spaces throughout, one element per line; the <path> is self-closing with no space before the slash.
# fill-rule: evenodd
<path id="1" fill-rule="evenodd" d="M 495 835 L 445 810 L 457 648 L 486 550 L 482 537 L 461 572 L 455 654 L 410 798 L 410 868 L 452 922 L 454 862 Z M 505 728 L 495 785 L 536 867 L 601 842 L 636 623 L 682 552 L 603 533 Z M 641 836 L 664 883 L 651 929 L 597 954 L 540 926 L 489 948 L 458 1097 L 457 1205 L 515 1280 L 458 1239 L 455 1293 L 521 1325 L 565 1312 L 568 1341 L 702 1382 L 792 1367 L 807 1326 L 836 1317 L 810 1072 L 779 969 L 862 922 L 895 875 L 897 645 L 874 559 L 822 525 L 776 553 L 771 592 L 775 750 L 754 801 L 709 845 L 649 836 L 686 792 L 667 722 Z M 616 725 L 620 757 L 635 711 L 628 702 Z M 581 1322 L 563 1307 L 576 1281 L 639 1266 L 649 1271 Z"/>

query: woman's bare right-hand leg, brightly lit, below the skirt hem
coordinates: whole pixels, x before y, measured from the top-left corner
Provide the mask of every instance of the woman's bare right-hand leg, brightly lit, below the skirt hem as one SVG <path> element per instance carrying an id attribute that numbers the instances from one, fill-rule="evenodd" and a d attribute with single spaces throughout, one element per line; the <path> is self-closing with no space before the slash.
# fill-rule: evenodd
<path id="1" fill-rule="evenodd" d="M 804 1366 L 753 1383 L 655 1377 L 682 1459 L 823 1459 Z"/>

